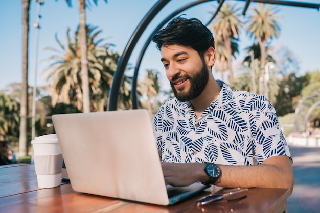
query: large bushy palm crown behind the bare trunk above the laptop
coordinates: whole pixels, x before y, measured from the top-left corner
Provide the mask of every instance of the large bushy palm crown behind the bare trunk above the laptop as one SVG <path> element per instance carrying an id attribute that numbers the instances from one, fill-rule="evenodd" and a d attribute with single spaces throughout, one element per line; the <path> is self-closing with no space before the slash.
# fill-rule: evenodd
<path id="1" fill-rule="evenodd" d="M 112 84 L 113 73 L 116 70 L 119 54 L 109 50 L 112 44 L 99 46 L 104 39 L 97 40 L 101 33 L 96 31 L 97 27 L 87 26 L 87 49 L 89 68 L 89 89 L 90 89 L 90 109 L 91 111 L 104 111 L 108 102 L 108 94 Z M 58 38 L 61 50 L 47 47 L 58 52 L 49 60 L 54 62 L 45 68 L 42 73 L 46 73 L 46 80 L 49 83 L 49 91 L 52 95 L 52 105 L 57 102 L 74 104 L 82 110 L 82 87 L 81 87 L 81 50 L 79 28 L 74 33 L 73 38 L 67 29 L 67 45 L 63 45 Z"/>

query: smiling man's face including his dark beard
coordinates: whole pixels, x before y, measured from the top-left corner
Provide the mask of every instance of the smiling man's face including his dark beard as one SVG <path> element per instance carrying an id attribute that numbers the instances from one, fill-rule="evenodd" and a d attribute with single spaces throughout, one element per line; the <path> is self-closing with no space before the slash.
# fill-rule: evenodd
<path id="1" fill-rule="evenodd" d="M 180 101 L 197 98 L 209 81 L 209 71 L 197 51 L 170 45 L 161 48 L 162 62 L 175 97 Z"/>

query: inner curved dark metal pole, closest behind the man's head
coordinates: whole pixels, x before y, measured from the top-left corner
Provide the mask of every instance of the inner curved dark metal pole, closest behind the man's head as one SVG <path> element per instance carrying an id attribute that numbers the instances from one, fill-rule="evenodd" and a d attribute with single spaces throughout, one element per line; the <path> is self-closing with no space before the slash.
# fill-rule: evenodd
<path id="1" fill-rule="evenodd" d="M 136 97 L 136 86 L 137 86 L 137 80 L 138 80 L 138 72 L 140 69 L 140 65 L 141 65 L 141 61 L 144 57 L 144 54 L 152 40 L 152 36 L 158 32 L 158 30 L 160 30 L 162 28 L 163 25 L 165 25 L 171 18 L 173 18 L 174 16 L 176 16 L 177 14 L 179 14 L 180 12 L 187 10 L 188 8 L 191 8 L 195 5 L 201 4 L 201 3 L 205 3 L 205 2 L 209 2 L 209 1 L 213 1 L 213 0 L 198 0 L 195 1 L 193 3 L 189 3 L 188 5 L 185 5 L 184 7 L 179 8 L 178 10 L 174 11 L 173 13 L 171 13 L 169 16 L 167 16 L 167 18 L 165 18 L 161 23 L 159 23 L 159 25 L 157 25 L 157 27 L 154 29 L 154 31 L 150 34 L 149 38 L 147 39 L 147 41 L 145 42 L 140 55 L 138 57 L 138 60 L 136 61 L 136 65 L 134 68 L 134 74 L 133 74 L 133 81 L 132 81 L 132 89 L 131 89 L 131 98 L 132 98 L 132 108 L 133 109 L 137 109 L 138 108 L 138 101 L 137 101 L 137 97 Z"/>

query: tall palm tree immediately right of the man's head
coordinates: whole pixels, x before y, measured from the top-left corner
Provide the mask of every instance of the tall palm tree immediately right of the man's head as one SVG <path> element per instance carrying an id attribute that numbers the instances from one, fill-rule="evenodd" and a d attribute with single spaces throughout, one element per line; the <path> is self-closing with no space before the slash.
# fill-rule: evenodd
<path id="1" fill-rule="evenodd" d="M 232 70 L 232 38 L 238 38 L 240 32 L 239 27 L 242 23 L 238 14 L 239 8 L 235 5 L 230 6 L 229 3 L 222 5 L 216 21 L 212 24 L 215 38 L 217 42 L 222 42 L 225 46 L 225 58 L 227 61 L 227 69 L 229 70 L 229 83 L 234 86 L 234 77 Z"/>

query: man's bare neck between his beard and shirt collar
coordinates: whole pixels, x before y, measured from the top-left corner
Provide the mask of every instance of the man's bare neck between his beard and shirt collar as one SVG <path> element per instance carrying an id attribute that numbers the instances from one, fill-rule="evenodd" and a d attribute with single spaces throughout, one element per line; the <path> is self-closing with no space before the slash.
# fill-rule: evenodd
<path id="1" fill-rule="evenodd" d="M 217 99 L 220 90 L 220 86 L 211 75 L 203 92 L 197 98 L 190 101 L 197 118 L 199 118 L 205 109 L 207 109 L 209 105 Z"/>

